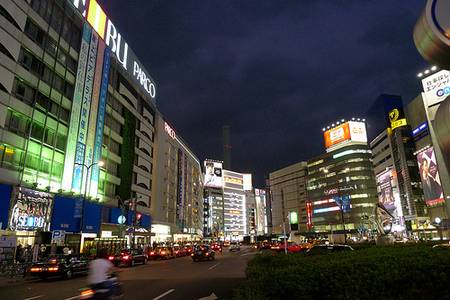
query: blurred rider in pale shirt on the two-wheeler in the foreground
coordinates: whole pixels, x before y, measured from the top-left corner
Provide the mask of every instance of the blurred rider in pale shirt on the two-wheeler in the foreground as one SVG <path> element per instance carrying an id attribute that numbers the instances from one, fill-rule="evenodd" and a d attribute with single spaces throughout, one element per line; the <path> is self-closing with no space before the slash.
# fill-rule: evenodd
<path id="1" fill-rule="evenodd" d="M 108 252 L 106 249 L 99 249 L 97 258 L 89 263 L 88 284 L 94 290 L 107 289 L 110 290 L 111 282 L 108 274 L 114 269 L 114 265 L 108 260 Z"/>

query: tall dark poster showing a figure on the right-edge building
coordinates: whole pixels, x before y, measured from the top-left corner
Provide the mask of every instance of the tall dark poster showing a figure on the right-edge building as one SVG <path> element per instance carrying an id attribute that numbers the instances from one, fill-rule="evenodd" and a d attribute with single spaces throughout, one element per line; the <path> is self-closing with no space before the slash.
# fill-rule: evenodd
<path id="1" fill-rule="evenodd" d="M 436 206 L 444 203 L 444 195 L 433 147 L 418 153 L 417 163 L 419 164 L 423 195 L 427 206 Z"/>

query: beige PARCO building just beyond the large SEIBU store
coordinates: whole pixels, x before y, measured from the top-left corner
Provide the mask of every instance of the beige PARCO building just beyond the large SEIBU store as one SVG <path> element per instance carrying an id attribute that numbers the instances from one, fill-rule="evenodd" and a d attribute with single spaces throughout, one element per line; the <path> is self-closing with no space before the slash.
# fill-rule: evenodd
<path id="1" fill-rule="evenodd" d="M 160 114 L 152 181 L 152 233 L 156 242 L 187 241 L 203 236 L 203 176 L 200 161 Z"/>

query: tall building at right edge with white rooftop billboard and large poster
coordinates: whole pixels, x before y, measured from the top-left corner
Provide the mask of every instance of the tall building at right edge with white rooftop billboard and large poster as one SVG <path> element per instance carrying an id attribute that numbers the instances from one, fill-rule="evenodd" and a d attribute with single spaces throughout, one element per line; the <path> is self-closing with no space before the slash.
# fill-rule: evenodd
<path id="1" fill-rule="evenodd" d="M 423 201 L 428 211 L 428 220 L 414 225 L 413 229 L 437 237 L 438 228 L 450 229 L 450 176 L 435 121 L 436 112 L 448 96 L 444 90 L 450 86 L 450 72 L 434 68 L 428 73 L 426 77 L 422 74 L 423 92 L 406 106 L 405 113 L 412 128 Z"/>

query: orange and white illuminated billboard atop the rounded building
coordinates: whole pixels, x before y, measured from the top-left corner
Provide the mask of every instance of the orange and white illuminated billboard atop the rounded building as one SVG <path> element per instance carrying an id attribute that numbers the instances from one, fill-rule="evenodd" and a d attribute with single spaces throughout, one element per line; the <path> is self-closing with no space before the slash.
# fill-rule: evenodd
<path id="1" fill-rule="evenodd" d="M 343 142 L 367 143 L 366 125 L 364 122 L 348 121 L 324 132 L 325 148 Z"/>

